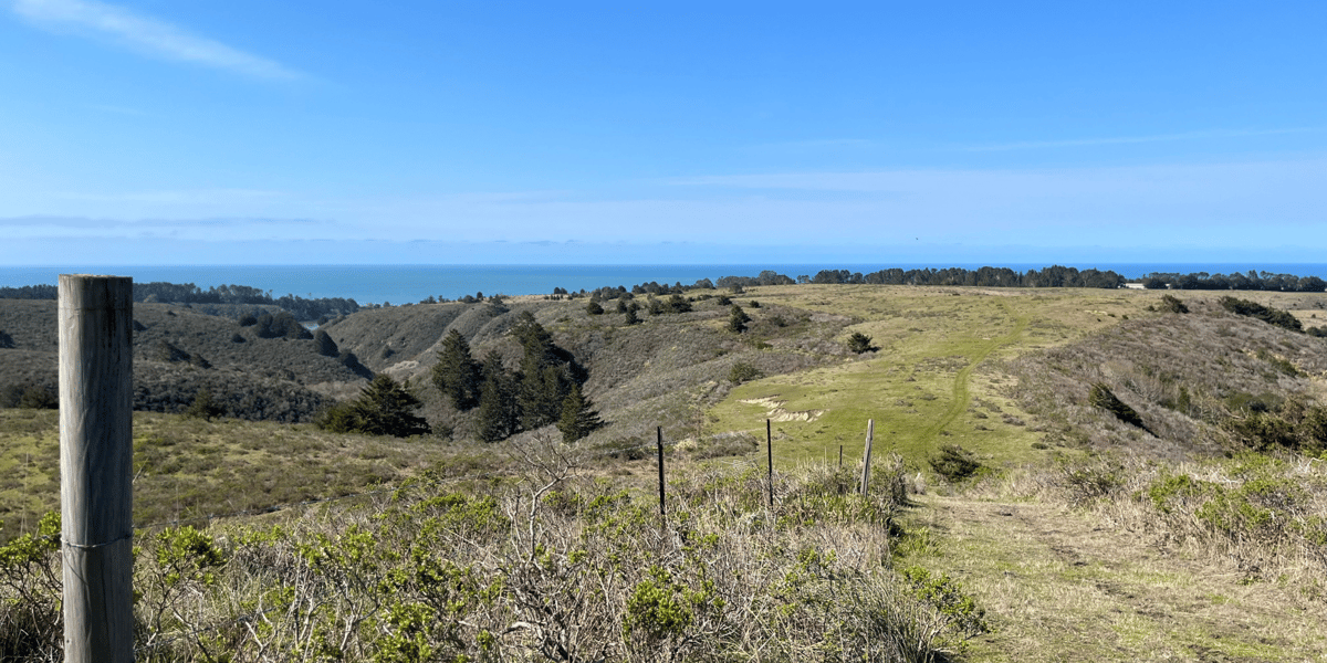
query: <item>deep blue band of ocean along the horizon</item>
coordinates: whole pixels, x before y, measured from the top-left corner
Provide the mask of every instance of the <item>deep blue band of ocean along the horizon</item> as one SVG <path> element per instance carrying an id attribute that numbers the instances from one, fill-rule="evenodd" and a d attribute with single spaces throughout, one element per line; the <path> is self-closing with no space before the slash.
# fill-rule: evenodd
<path id="1" fill-rule="evenodd" d="M 137 282 L 169 281 L 194 284 L 202 289 L 212 285 L 248 285 L 268 290 L 273 297 L 345 297 L 360 304 L 407 304 L 429 297 L 455 300 L 466 294 L 548 294 L 553 288 L 592 290 L 602 286 L 630 288 L 649 281 L 691 285 L 701 278 L 717 281 L 723 276 L 756 276 L 763 269 L 796 278 L 815 276 L 821 269 L 877 272 L 880 269 L 959 267 L 977 269 L 981 264 L 775 264 L 775 265 L 174 265 L 174 267 L 0 267 L 0 286 L 54 285 L 62 273 L 96 272 L 130 276 Z M 1050 265 L 994 264 L 1018 272 Z M 1112 269 L 1127 278 L 1153 272 L 1174 273 L 1246 273 L 1250 269 L 1295 276 L 1327 278 L 1327 264 L 1072 264 L 1078 269 Z"/>

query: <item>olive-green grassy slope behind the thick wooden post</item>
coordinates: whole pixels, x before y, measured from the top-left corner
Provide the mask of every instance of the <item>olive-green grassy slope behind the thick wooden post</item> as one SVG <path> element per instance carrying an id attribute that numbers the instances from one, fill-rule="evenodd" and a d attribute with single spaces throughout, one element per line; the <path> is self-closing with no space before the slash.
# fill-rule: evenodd
<path id="1" fill-rule="evenodd" d="M 54 410 L 0 410 L 0 541 L 58 511 Z M 134 521 L 219 517 L 350 495 L 425 469 L 474 471 L 472 450 L 433 439 L 333 435 L 283 426 L 134 412 Z"/>

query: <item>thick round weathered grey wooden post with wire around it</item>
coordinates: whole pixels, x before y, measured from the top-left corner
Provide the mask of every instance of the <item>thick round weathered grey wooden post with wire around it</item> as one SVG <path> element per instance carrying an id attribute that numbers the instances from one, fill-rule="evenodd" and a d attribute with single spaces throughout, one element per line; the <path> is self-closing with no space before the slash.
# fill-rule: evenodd
<path id="1" fill-rule="evenodd" d="M 133 294 L 60 274 L 60 514 L 65 660 L 134 660 Z"/>

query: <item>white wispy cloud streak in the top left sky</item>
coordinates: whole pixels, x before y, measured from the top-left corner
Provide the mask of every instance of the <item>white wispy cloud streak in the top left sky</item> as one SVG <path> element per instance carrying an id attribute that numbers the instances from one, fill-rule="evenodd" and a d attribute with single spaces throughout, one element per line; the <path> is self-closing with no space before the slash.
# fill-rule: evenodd
<path id="1" fill-rule="evenodd" d="M 166 21 L 94 0 L 15 0 L 13 12 L 52 30 L 109 37 L 138 50 L 194 65 L 264 80 L 299 80 L 304 74 L 276 61 L 192 34 Z"/>

